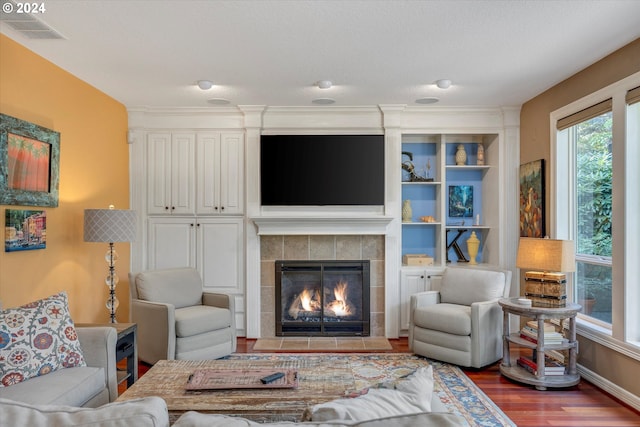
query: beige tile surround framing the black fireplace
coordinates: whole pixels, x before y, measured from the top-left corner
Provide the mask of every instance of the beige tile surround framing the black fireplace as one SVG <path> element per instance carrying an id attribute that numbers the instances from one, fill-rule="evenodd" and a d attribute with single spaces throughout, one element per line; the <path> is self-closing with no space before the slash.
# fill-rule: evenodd
<path id="1" fill-rule="evenodd" d="M 371 336 L 385 335 L 384 235 L 260 236 L 260 336 L 275 337 L 276 260 L 354 260 L 371 262 Z"/>

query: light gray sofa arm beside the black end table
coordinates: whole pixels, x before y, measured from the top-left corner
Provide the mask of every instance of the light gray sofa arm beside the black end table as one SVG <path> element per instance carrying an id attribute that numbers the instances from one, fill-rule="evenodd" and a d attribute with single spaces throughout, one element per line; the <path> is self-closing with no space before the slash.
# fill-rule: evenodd
<path id="1" fill-rule="evenodd" d="M 109 326 L 77 327 L 76 333 L 87 366 L 103 368 L 105 384 L 109 389 L 109 402 L 118 398 L 116 372 L 116 342 L 118 333 Z"/>

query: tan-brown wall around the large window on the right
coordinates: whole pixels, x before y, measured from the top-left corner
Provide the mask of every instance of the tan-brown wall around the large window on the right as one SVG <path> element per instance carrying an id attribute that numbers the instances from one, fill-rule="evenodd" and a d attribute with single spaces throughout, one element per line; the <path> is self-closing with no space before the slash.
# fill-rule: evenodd
<path id="1" fill-rule="evenodd" d="M 552 65 L 550 65 L 552 66 Z M 590 93 L 640 71 L 640 39 L 596 62 L 576 75 L 529 100 L 520 112 L 520 162 L 549 161 L 550 113 Z M 546 182 L 549 182 L 546 168 Z M 547 191 L 547 218 L 551 209 Z M 549 230 L 549 224 L 546 224 Z M 522 281 L 521 281 L 522 283 Z M 640 362 L 579 337 L 578 363 L 625 390 L 640 396 Z"/>

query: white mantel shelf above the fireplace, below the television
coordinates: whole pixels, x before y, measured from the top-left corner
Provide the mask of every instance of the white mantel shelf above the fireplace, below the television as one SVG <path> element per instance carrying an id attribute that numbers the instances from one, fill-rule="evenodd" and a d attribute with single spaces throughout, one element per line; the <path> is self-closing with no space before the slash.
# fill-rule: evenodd
<path id="1" fill-rule="evenodd" d="M 259 216 L 250 218 L 258 235 L 386 235 L 388 216 Z"/>

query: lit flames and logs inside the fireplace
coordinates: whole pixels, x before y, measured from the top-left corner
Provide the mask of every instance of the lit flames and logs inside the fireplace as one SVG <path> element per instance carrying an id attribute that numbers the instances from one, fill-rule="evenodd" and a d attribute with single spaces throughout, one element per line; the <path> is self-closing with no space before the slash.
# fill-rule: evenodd
<path id="1" fill-rule="evenodd" d="M 347 299 L 348 283 L 339 281 L 333 288 L 333 299 L 324 306 L 325 316 L 344 317 L 354 312 L 353 305 Z M 298 319 L 300 316 L 318 317 L 320 315 L 321 299 L 318 289 L 305 288 L 298 294 L 289 306 L 289 316 Z"/>

